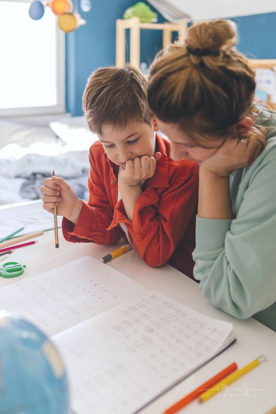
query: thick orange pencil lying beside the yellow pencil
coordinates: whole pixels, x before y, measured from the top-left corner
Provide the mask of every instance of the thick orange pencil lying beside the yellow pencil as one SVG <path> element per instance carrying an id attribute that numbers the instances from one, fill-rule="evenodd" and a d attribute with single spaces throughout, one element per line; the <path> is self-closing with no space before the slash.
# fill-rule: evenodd
<path id="1" fill-rule="evenodd" d="M 227 377 L 231 372 L 235 371 L 238 368 L 235 362 L 231 363 L 228 367 L 224 368 L 214 377 L 210 378 L 206 383 L 200 385 L 200 387 L 196 388 L 194 391 L 190 392 L 190 394 L 186 395 L 184 398 L 173 404 L 171 407 L 167 408 L 163 414 L 174 414 L 181 408 L 185 407 L 185 405 L 189 404 L 189 402 L 193 401 L 195 398 L 199 397 L 204 391 L 209 390 L 214 384 L 218 383 L 218 381 L 223 380 L 223 378 Z"/>

